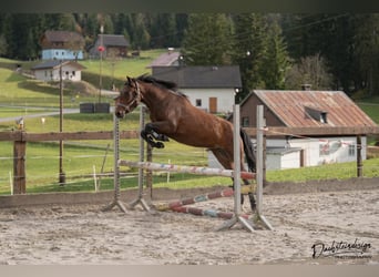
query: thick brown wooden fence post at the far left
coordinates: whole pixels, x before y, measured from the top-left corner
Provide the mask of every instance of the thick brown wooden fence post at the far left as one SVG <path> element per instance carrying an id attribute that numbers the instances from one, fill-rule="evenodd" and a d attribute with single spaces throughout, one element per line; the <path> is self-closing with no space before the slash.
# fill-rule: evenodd
<path id="1" fill-rule="evenodd" d="M 27 142 L 21 140 L 13 143 L 13 194 L 27 193 L 27 175 L 25 175 L 25 152 Z"/>

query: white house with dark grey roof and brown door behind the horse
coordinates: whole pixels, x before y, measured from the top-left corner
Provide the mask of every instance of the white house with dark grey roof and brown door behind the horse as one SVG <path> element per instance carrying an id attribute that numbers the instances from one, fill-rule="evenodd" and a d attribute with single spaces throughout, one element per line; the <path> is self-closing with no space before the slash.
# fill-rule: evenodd
<path id="1" fill-rule="evenodd" d="M 236 89 L 242 88 L 239 66 L 153 66 L 156 79 L 175 82 L 194 106 L 209 113 L 229 113 Z"/>

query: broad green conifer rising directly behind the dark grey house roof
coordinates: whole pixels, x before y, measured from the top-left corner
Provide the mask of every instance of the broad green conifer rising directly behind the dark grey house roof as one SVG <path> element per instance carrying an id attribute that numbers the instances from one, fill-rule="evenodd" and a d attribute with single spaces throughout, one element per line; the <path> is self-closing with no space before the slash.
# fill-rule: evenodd
<path id="1" fill-rule="evenodd" d="M 222 13 L 193 13 L 184 33 L 182 53 L 190 65 L 228 64 L 232 22 Z"/>

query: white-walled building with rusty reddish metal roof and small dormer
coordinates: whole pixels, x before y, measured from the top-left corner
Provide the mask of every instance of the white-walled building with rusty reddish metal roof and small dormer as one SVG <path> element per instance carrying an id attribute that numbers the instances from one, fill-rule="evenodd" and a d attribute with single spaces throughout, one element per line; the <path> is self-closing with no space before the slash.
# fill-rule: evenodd
<path id="1" fill-rule="evenodd" d="M 257 105 L 264 105 L 267 127 L 319 129 L 318 135 L 267 136 L 267 170 L 357 161 L 357 135 L 352 130 L 378 126 L 342 91 L 254 90 L 240 103 L 243 127 L 256 126 Z M 341 129 L 351 131 L 341 132 Z M 361 156 L 366 160 L 365 134 L 361 134 Z"/>

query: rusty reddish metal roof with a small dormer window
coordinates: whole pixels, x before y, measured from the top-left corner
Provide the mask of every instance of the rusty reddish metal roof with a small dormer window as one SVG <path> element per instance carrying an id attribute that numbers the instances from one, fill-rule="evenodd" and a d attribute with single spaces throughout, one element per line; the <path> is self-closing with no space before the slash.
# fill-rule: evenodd
<path id="1" fill-rule="evenodd" d="M 254 90 L 253 94 L 288 127 L 377 126 L 342 91 Z"/>

